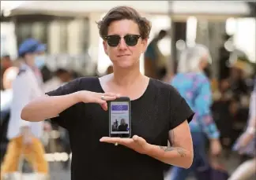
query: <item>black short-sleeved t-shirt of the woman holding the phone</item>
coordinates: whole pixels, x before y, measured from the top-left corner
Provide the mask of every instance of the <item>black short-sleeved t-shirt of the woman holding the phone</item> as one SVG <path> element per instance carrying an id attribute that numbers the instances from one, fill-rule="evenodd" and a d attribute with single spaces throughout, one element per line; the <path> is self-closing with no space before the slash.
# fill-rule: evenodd
<path id="1" fill-rule="evenodd" d="M 75 79 L 50 96 L 79 90 L 104 93 L 97 77 Z M 131 133 L 153 145 L 168 145 L 168 131 L 190 122 L 194 112 L 173 86 L 150 79 L 145 93 L 131 101 Z M 125 146 L 100 142 L 108 136 L 108 112 L 94 103 L 77 103 L 51 119 L 70 133 L 71 178 L 93 180 L 163 180 L 164 163 Z"/>

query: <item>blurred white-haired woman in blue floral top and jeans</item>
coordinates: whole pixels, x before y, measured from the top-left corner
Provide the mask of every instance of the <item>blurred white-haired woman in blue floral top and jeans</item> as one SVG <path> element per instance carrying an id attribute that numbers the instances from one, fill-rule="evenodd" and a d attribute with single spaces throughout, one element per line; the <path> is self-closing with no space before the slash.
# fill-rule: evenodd
<path id="1" fill-rule="evenodd" d="M 205 134 L 210 140 L 213 155 L 220 153 L 219 131 L 216 128 L 211 113 L 211 88 L 209 79 L 203 73 L 211 61 L 209 50 L 202 45 L 187 48 L 181 53 L 178 71 L 171 84 L 186 99 L 195 112 L 190 123 L 194 144 L 194 162 L 189 169 L 173 167 L 171 179 L 184 180 L 193 171 L 198 179 L 209 177 L 209 163 L 205 152 Z M 181 83 L 182 82 L 182 83 Z"/>

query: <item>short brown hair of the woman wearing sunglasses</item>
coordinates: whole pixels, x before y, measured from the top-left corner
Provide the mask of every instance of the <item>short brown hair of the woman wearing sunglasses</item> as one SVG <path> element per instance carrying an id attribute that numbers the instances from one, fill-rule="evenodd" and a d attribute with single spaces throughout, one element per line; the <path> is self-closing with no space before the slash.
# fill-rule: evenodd
<path id="1" fill-rule="evenodd" d="M 105 17 L 97 22 L 100 37 L 105 39 L 109 25 L 115 20 L 134 20 L 137 23 L 141 39 L 148 39 L 151 30 L 151 23 L 145 17 L 141 17 L 137 10 L 128 6 L 117 6 L 112 8 Z"/>

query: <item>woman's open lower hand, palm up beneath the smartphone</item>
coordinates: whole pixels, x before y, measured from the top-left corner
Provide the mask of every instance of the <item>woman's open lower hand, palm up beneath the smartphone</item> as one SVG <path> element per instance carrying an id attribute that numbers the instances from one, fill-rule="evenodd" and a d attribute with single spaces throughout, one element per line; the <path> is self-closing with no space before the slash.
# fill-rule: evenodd
<path id="1" fill-rule="evenodd" d="M 116 144 L 125 145 L 130 149 L 134 149 L 134 151 L 139 152 L 141 154 L 147 154 L 149 152 L 150 144 L 145 141 L 144 138 L 141 138 L 137 135 L 134 135 L 133 138 L 110 138 L 103 137 L 100 138 L 100 141 Z"/>

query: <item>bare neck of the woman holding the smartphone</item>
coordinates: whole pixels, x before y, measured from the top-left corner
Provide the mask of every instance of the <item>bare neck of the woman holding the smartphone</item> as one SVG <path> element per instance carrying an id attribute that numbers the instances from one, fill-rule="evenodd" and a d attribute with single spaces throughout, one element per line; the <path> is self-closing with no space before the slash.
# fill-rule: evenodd
<path id="1" fill-rule="evenodd" d="M 114 68 L 113 83 L 118 86 L 130 86 L 137 79 L 140 79 L 143 75 L 140 72 L 140 66 L 136 65 L 131 68 Z"/>

